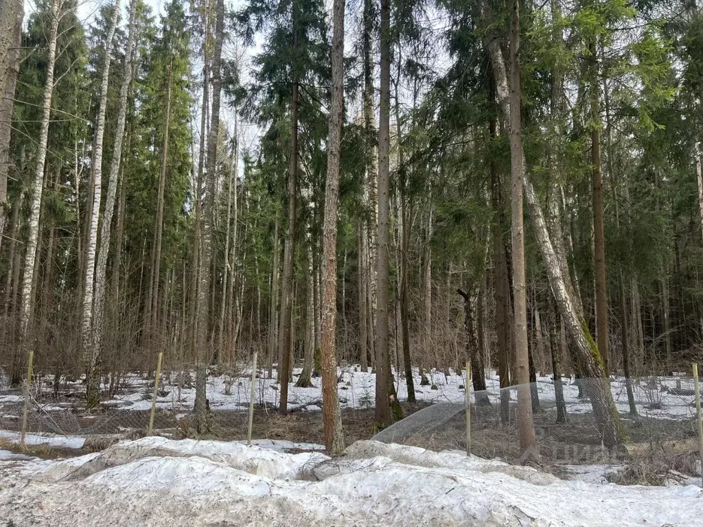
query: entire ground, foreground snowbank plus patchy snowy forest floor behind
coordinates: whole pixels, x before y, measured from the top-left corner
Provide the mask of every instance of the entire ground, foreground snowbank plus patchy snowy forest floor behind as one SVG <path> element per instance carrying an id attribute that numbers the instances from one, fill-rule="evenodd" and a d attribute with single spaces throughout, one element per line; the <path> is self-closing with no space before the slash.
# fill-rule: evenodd
<path id="1" fill-rule="evenodd" d="M 209 377 L 210 430 L 200 441 L 188 423 L 193 392 L 173 374 L 160 389 L 155 437 L 142 437 L 153 380 L 136 374 L 92 413 L 81 409 L 79 383 L 65 382 L 58 396 L 47 379 L 37 383 L 25 447 L 22 395 L 0 390 L 0 527 L 701 525 L 690 379 L 640 379 L 636 418 L 626 413 L 624 382 L 612 379 L 628 443 L 607 450 L 573 379 L 564 385 L 567 422 L 557 424 L 554 384 L 538 377 L 541 459 L 524 467 L 515 389 L 508 424 L 498 389 L 486 392 L 490 406 L 472 404 L 466 457 L 463 377 L 433 371 L 432 384 L 420 386 L 418 372 L 417 403 L 404 401 L 399 379 L 408 418 L 394 426 L 404 432 L 376 435 L 373 374 L 352 367 L 340 375 L 349 446 L 332 459 L 322 453 L 320 379 L 291 390 L 285 417 L 275 381 L 257 379 L 252 446 L 245 374 Z M 366 441 L 389 431 L 393 443 Z"/>

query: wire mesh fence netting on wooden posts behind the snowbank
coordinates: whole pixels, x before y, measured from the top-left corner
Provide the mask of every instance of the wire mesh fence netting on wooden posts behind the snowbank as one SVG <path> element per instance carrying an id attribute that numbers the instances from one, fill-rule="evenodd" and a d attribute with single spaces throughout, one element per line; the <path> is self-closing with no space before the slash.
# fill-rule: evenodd
<path id="1" fill-rule="evenodd" d="M 321 379 L 302 379 L 301 368 L 293 370 L 288 390 L 288 410 L 306 415 L 302 429 L 272 429 L 271 419 L 279 403 L 280 384 L 276 367 L 241 363 L 231 367 L 207 368 L 207 438 L 246 438 L 248 411 L 254 394 L 255 439 L 292 439 L 321 442 Z M 195 436 L 195 365 L 165 362 L 156 391 L 153 434 L 172 438 Z M 466 379 L 453 370 L 415 370 L 417 403 L 406 403 L 404 376 L 394 375 L 397 396 L 406 417 L 374 435 L 375 375 L 361 372 L 357 365 L 340 367 L 338 393 L 348 441 L 373 438 L 430 450 L 466 450 Z M 694 382 L 690 372 L 647 376 L 626 380 L 612 377 L 607 386 L 619 412 L 622 441 L 608 448 L 602 436 L 602 422 L 593 412 L 593 379 L 562 377 L 560 383 L 547 375 L 529 386 L 530 407 L 536 434 L 536 448 L 520 447 L 520 413 L 517 393 L 521 386 L 501 389 L 494 372 L 485 376 L 485 391 L 470 388 L 470 451 L 486 458 L 507 462 L 536 458 L 543 464 L 638 464 L 633 481 L 660 481 L 699 473 L 699 437 Z M 599 381 L 605 383 L 605 381 Z M 629 390 L 628 390 L 629 385 Z M 101 403 L 86 410 L 85 386 L 81 379 L 53 379 L 34 372 L 30 389 L 9 386 L 0 377 L 0 441 L 16 438 L 22 427 L 27 404 L 29 442 L 44 441 L 74 447 L 115 441 L 146 434 L 154 405 L 155 375 L 130 372 L 101 382 Z M 628 391 L 630 392 L 628 395 Z M 562 393 L 561 411 L 557 393 Z M 28 398 L 28 399 L 27 399 Z M 501 403 L 502 401 L 502 403 Z M 563 418 L 562 418 L 563 417 Z M 602 419 L 601 419 L 602 420 Z M 280 421 L 279 421 L 280 422 Z M 268 423 L 268 424 L 267 424 Z M 353 429 L 356 427 L 356 429 Z M 316 433 L 314 429 L 319 429 Z M 286 437 L 292 433 L 295 437 Z"/>

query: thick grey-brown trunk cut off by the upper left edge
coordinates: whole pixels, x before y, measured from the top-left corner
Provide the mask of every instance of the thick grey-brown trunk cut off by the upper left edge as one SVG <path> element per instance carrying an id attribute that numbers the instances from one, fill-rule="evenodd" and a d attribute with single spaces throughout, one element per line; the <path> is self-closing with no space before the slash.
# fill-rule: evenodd
<path id="1" fill-rule="evenodd" d="M 15 108 L 15 86 L 20 73 L 20 46 L 25 4 L 5 0 L 0 7 L 0 247 L 7 219 L 7 176 L 10 168 L 10 138 Z"/>

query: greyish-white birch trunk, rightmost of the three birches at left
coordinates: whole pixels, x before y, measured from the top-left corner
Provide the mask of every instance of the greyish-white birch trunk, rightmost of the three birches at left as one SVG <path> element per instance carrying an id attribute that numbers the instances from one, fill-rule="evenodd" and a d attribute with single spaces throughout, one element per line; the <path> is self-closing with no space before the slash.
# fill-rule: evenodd
<path id="1" fill-rule="evenodd" d="M 108 175 L 108 196 L 105 200 L 103 215 L 103 228 L 101 230 L 100 247 L 98 249 L 98 265 L 95 275 L 95 297 L 93 299 L 93 344 L 89 371 L 95 370 L 101 356 L 103 345 L 103 317 L 105 313 L 105 275 L 108 270 L 108 254 L 110 254 L 110 229 L 112 228 L 112 215 L 115 212 L 115 197 L 117 196 L 117 174 L 120 173 L 120 160 L 122 159 L 122 139 L 124 138 L 124 124 L 127 120 L 127 95 L 131 85 L 132 60 L 134 43 L 136 41 L 136 0 L 131 0 L 129 6 L 129 37 L 127 48 L 124 51 L 124 78 L 120 87 L 120 110 L 117 113 L 117 130 L 115 130 L 115 144 L 112 147 L 112 160 Z M 169 93 L 170 100 L 170 93 Z M 168 112 L 168 111 L 167 111 Z M 167 119 L 168 120 L 168 119 Z"/>

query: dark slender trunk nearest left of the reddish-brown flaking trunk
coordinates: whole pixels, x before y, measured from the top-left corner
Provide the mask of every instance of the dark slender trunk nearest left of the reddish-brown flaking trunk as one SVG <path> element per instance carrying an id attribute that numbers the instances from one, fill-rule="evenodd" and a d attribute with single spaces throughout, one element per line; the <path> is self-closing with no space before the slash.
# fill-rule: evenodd
<path id="1" fill-rule="evenodd" d="M 292 2 L 293 48 L 298 48 L 297 1 Z M 292 72 L 292 109 L 290 112 L 291 142 L 288 168 L 288 232 L 283 249 L 283 284 L 280 295 L 280 324 L 278 325 L 278 354 L 283 358 L 278 368 L 280 376 L 280 403 L 278 412 L 288 412 L 288 368 L 290 367 L 290 317 L 292 312 L 293 264 L 295 261 L 295 223 L 298 179 L 298 110 L 300 106 L 299 74 L 297 66 Z"/>

